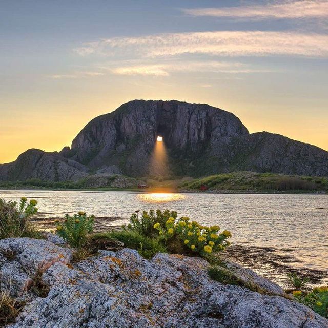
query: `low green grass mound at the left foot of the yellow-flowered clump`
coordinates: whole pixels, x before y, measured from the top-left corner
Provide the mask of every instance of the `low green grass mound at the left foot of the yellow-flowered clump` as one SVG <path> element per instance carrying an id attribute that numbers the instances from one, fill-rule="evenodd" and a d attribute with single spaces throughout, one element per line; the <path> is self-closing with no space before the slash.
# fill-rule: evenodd
<path id="1" fill-rule="evenodd" d="M 149 238 L 139 234 L 137 231 L 121 230 L 107 233 L 98 233 L 92 236 L 97 239 L 116 239 L 124 243 L 127 248 L 135 249 L 139 254 L 147 259 L 152 258 L 156 253 L 166 253 L 166 248 L 158 239 Z"/>

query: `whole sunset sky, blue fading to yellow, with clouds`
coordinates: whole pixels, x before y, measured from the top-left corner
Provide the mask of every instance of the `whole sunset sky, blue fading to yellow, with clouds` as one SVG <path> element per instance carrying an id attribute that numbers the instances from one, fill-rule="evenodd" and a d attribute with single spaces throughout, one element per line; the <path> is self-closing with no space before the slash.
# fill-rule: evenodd
<path id="1" fill-rule="evenodd" d="M 328 150 L 328 0 L 0 0 L 0 163 L 133 99 Z"/>

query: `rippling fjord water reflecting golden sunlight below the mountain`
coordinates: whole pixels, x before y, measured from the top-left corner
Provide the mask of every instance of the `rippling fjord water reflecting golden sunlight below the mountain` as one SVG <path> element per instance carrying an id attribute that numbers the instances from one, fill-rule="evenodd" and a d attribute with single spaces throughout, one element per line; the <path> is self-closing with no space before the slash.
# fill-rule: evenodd
<path id="1" fill-rule="evenodd" d="M 233 243 L 274 247 L 312 269 L 328 270 L 328 195 L 149 194 L 105 191 L 0 191 L 0 198 L 38 200 L 43 217 L 83 210 L 95 216 L 122 217 L 135 210 L 171 209 L 202 224 L 230 230 Z"/>

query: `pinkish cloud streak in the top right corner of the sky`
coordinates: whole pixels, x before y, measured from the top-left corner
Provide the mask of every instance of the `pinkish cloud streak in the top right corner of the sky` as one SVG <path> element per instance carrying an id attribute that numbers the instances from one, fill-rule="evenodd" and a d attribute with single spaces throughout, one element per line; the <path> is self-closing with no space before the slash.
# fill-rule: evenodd
<path id="1" fill-rule="evenodd" d="M 224 8 L 183 9 L 191 16 L 235 17 L 247 19 L 324 18 L 328 17 L 328 1 L 280 1 L 267 5 Z"/>

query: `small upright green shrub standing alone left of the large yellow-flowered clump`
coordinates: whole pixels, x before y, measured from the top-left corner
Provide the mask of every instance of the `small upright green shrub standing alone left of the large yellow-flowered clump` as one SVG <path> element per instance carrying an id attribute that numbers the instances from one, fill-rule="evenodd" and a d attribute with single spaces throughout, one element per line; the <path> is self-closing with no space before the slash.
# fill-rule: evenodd
<path id="1" fill-rule="evenodd" d="M 66 214 L 65 221 L 56 220 L 56 234 L 63 237 L 72 247 L 82 248 L 87 241 L 87 235 L 93 231 L 94 216 L 78 212 L 73 216 Z"/>

